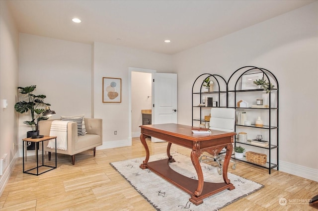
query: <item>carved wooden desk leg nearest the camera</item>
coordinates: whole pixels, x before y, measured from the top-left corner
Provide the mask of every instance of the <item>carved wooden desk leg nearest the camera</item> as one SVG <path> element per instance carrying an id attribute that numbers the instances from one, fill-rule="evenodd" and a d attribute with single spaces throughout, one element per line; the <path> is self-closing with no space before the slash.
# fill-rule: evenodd
<path id="1" fill-rule="evenodd" d="M 189 199 L 190 202 L 192 202 L 195 205 L 200 205 L 203 203 L 203 200 L 198 200 L 197 197 L 199 197 L 202 194 L 202 190 L 203 190 L 203 185 L 204 185 L 204 179 L 203 179 L 203 173 L 202 173 L 202 169 L 201 169 L 201 165 L 199 162 L 199 157 L 201 156 L 201 151 L 195 151 L 192 150 L 191 152 L 191 161 L 192 164 L 198 174 L 198 187 L 197 189 L 194 191 L 193 195 L 191 196 L 191 198 Z"/>

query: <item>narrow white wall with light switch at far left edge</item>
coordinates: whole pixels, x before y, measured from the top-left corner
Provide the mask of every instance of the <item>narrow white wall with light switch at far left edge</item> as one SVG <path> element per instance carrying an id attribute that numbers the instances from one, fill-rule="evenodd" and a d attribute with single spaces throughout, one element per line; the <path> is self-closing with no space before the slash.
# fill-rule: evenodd
<path id="1" fill-rule="evenodd" d="M 6 169 L 0 176 L 0 195 L 13 169 L 12 160 L 16 158 L 17 114 L 14 110 L 18 86 L 18 30 L 12 19 L 6 1 L 0 1 L 0 158 L 6 157 Z M 3 108 L 2 100 L 7 100 Z"/>

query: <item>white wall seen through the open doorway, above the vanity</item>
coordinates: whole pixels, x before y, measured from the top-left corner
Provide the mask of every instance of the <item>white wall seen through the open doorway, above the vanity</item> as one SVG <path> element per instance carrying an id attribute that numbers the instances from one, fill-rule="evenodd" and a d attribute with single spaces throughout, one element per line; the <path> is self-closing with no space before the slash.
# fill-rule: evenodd
<path id="1" fill-rule="evenodd" d="M 131 73 L 131 123 L 132 137 L 140 136 L 143 123 L 142 109 L 152 109 L 152 74 L 145 72 Z M 135 135 L 134 135 L 135 134 Z"/>

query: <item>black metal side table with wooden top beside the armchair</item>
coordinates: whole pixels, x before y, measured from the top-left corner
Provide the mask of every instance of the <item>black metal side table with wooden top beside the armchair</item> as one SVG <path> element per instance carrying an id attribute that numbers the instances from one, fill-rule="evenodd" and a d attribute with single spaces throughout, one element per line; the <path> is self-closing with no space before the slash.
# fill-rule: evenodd
<path id="1" fill-rule="evenodd" d="M 22 145 L 23 145 L 23 150 L 22 150 L 22 152 L 23 152 L 23 173 L 28 173 L 28 174 L 33 174 L 33 175 L 40 175 L 40 174 L 43 174 L 43 173 L 45 173 L 45 172 L 47 172 L 47 171 L 53 170 L 53 169 L 55 169 L 55 168 L 57 167 L 56 138 L 57 138 L 57 136 L 44 136 L 43 138 L 39 138 L 39 139 L 32 139 L 32 138 L 22 139 L 22 141 L 23 141 L 23 144 L 22 144 Z M 43 142 L 44 142 L 44 141 L 49 141 L 49 140 L 51 140 L 51 139 L 55 139 L 55 166 L 50 166 L 50 165 L 45 165 L 45 164 L 44 164 Z M 25 142 L 35 142 L 35 151 L 36 151 L 35 160 L 36 160 L 36 167 L 31 168 L 31 169 L 29 169 L 29 170 L 24 170 L 24 143 L 25 143 Z M 42 144 L 41 144 L 41 145 L 42 145 L 42 165 L 39 165 L 39 155 L 38 155 L 39 143 L 42 143 Z M 45 170 L 45 171 L 39 173 L 39 168 L 42 167 L 42 166 L 48 167 L 49 169 L 47 169 L 47 170 Z M 36 169 L 36 173 L 30 172 L 30 171 L 32 171 L 32 170 L 34 170 L 34 169 Z"/>

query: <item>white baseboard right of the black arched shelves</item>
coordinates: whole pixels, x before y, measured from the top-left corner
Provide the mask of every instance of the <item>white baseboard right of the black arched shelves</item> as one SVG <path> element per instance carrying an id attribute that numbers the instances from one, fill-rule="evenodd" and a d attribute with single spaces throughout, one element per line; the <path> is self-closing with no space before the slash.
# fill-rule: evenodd
<path id="1" fill-rule="evenodd" d="M 318 182 L 318 169 L 315 168 L 309 168 L 302 165 L 297 165 L 294 163 L 280 160 L 279 170 Z"/>

